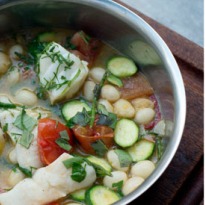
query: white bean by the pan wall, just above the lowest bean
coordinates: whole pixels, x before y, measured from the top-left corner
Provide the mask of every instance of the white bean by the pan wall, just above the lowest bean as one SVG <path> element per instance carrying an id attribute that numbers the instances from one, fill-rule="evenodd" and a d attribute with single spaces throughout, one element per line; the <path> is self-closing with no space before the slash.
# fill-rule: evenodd
<path id="1" fill-rule="evenodd" d="M 130 170 L 132 177 L 138 176 L 146 179 L 155 169 L 153 162 L 143 160 L 134 164 Z"/>

